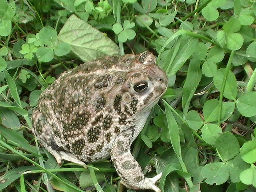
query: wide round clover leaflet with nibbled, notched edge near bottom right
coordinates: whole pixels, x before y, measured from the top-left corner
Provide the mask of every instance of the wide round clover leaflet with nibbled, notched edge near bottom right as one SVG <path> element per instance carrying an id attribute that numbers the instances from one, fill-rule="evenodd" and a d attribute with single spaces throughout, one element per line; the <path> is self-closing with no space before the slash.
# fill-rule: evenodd
<path id="1" fill-rule="evenodd" d="M 202 177 L 206 178 L 205 182 L 209 185 L 221 185 L 229 177 L 227 166 L 222 162 L 213 162 L 203 166 L 201 170 Z"/>

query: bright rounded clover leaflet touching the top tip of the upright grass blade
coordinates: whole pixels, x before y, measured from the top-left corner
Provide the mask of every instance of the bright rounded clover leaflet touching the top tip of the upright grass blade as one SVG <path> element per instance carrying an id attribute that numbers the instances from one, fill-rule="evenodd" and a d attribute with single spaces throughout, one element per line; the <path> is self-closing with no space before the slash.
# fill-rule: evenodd
<path id="1" fill-rule="evenodd" d="M 244 43 L 243 36 L 239 33 L 226 34 L 227 47 L 230 50 L 238 50 Z"/>

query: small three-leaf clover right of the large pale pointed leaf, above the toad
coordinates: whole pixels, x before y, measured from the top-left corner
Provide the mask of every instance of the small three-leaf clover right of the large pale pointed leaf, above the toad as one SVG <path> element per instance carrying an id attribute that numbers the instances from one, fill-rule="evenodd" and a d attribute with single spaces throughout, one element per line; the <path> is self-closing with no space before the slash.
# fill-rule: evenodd
<path id="1" fill-rule="evenodd" d="M 125 20 L 123 27 L 120 23 L 115 23 L 113 25 L 113 31 L 115 34 L 118 34 L 118 41 L 121 42 L 126 42 L 127 39 L 131 40 L 134 39 L 134 37 L 136 36 L 136 33 L 134 30 L 132 30 L 131 28 L 133 28 L 135 26 L 134 22 L 130 22 L 129 20 Z"/>

